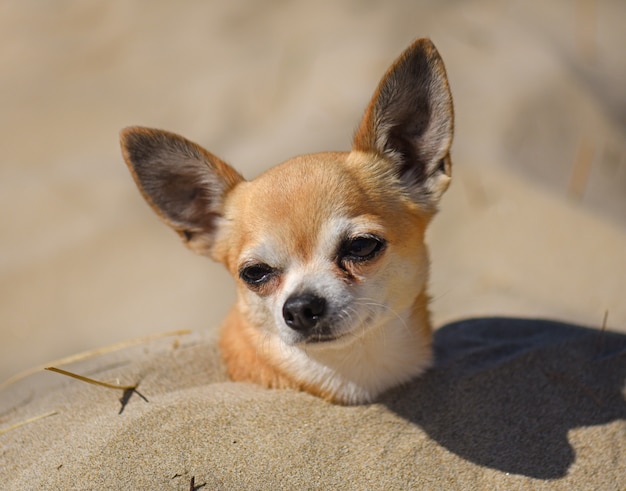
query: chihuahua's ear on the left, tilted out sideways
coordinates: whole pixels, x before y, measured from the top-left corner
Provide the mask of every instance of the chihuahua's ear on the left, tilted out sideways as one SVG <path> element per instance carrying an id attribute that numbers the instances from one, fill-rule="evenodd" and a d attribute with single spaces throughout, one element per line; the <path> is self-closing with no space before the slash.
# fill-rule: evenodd
<path id="1" fill-rule="evenodd" d="M 145 200 L 190 249 L 209 254 L 224 198 L 243 177 L 201 146 L 167 131 L 126 128 L 120 143 Z"/>

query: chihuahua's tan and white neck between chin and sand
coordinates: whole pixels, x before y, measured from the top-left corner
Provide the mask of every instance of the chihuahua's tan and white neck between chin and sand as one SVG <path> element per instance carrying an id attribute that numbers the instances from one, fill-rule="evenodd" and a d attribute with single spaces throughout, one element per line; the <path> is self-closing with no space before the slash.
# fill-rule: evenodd
<path id="1" fill-rule="evenodd" d="M 222 353 L 230 354 L 225 362 L 235 380 L 306 390 L 348 404 L 367 402 L 430 365 L 427 303 L 422 291 L 406 311 L 360 338 L 310 349 L 286 346 L 277 335 L 248 325 L 235 308 L 223 326 Z"/>

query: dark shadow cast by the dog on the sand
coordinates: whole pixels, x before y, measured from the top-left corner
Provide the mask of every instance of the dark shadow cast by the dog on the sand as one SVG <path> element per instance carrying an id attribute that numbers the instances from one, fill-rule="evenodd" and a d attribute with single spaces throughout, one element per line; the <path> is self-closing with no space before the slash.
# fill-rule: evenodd
<path id="1" fill-rule="evenodd" d="M 435 368 L 381 402 L 476 464 L 560 478 L 570 430 L 626 419 L 626 335 L 482 318 L 442 327 L 435 349 Z"/>

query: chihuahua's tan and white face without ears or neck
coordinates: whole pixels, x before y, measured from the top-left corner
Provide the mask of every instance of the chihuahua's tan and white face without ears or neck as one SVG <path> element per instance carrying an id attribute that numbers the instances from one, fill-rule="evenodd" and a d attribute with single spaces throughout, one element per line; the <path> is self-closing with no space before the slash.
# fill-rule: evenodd
<path id="1" fill-rule="evenodd" d="M 224 218 L 214 254 L 237 279 L 240 310 L 287 345 L 349 343 L 424 287 L 429 215 L 383 160 L 298 157 L 237 187 Z"/>

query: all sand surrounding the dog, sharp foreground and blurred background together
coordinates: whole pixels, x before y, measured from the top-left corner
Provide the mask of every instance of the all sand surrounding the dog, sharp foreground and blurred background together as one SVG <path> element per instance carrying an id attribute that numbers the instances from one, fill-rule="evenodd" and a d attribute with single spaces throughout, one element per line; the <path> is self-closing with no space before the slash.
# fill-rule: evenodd
<path id="1" fill-rule="evenodd" d="M 626 488 L 625 19 L 618 0 L 4 2 L 0 380 L 192 334 L 65 366 L 139 383 L 121 414 L 120 391 L 51 372 L 3 386 L 3 486 Z M 247 177 L 347 149 L 418 36 L 457 117 L 428 235 L 437 366 L 362 407 L 228 382 L 232 280 L 143 203 L 119 129 Z"/>

